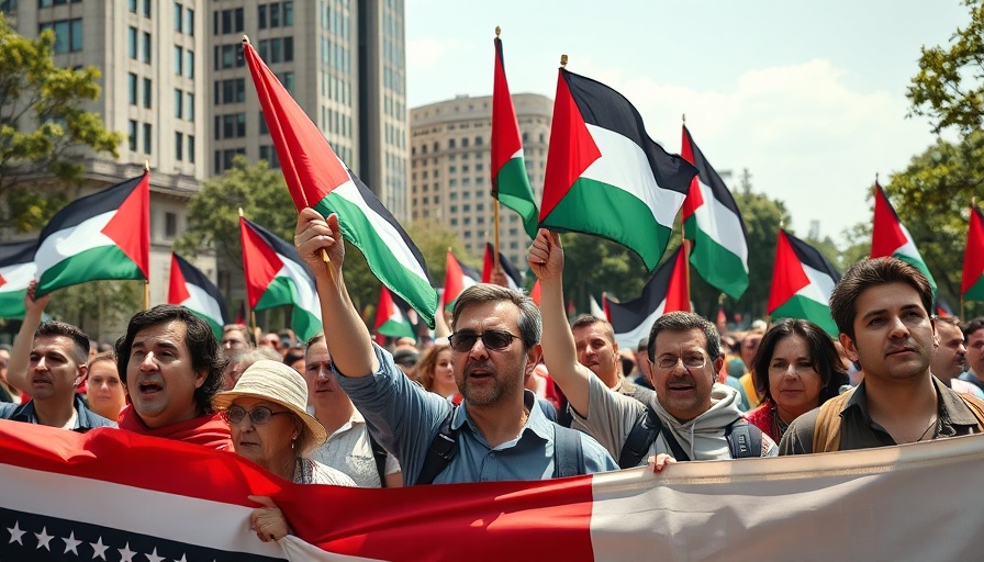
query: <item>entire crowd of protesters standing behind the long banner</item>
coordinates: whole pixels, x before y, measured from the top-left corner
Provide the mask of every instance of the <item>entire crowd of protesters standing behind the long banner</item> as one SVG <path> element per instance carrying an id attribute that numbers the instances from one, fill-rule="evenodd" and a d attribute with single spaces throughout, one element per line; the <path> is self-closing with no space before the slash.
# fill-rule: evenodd
<path id="1" fill-rule="evenodd" d="M 118 427 L 300 484 L 360 487 L 660 472 L 984 429 L 984 319 L 931 317 L 926 278 L 892 258 L 859 262 L 837 285 L 836 338 L 803 319 L 731 331 L 670 313 L 625 349 L 604 319 L 567 317 L 560 238 L 541 231 L 528 258 L 539 306 L 479 284 L 436 331 L 380 346 L 345 291 L 334 217 L 302 212 L 295 245 L 326 318 L 309 341 L 236 324 L 215 337 L 159 305 L 101 346 L 42 322 L 48 297 L 32 285 L 13 346 L 0 346 L 0 418 Z M 261 540 L 291 532 L 269 497 L 250 497 Z"/>

